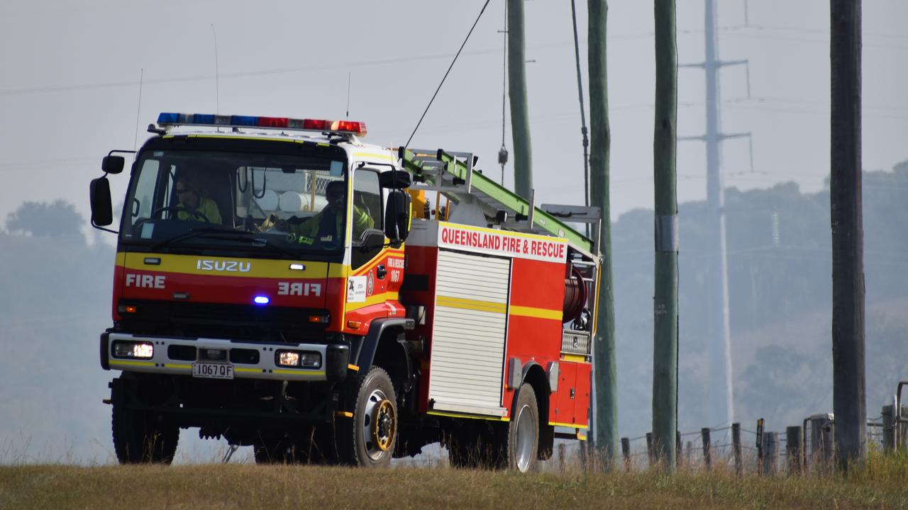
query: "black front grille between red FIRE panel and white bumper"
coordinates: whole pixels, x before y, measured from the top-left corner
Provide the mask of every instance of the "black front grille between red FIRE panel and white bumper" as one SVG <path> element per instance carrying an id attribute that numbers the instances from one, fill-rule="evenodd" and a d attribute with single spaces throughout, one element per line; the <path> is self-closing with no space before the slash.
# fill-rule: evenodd
<path id="1" fill-rule="evenodd" d="M 121 329 L 136 334 L 232 338 L 245 341 L 321 341 L 325 325 L 309 322 L 323 309 L 262 307 L 178 301 L 121 300 L 135 313 L 121 314 Z M 194 358 L 194 357 L 193 357 Z"/>

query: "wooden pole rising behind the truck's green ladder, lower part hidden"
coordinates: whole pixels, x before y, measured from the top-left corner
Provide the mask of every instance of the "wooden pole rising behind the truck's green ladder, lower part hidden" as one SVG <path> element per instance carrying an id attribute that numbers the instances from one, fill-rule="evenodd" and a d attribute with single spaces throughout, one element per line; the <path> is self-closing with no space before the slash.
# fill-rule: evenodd
<path id="1" fill-rule="evenodd" d="M 524 0 L 508 0 L 508 96 L 511 136 L 514 139 L 514 191 L 529 200 L 530 190 L 533 189 L 533 162 L 529 143 L 523 2 Z"/>

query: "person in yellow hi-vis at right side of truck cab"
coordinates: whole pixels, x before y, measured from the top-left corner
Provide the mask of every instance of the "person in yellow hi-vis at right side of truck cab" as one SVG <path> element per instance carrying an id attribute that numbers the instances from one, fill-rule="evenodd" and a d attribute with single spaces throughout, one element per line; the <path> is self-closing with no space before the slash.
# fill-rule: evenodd
<path id="1" fill-rule="evenodd" d="M 337 244 L 343 240 L 343 181 L 329 182 L 325 186 L 325 199 L 328 200 L 328 205 L 300 225 L 288 225 L 285 221 L 279 221 L 276 226 L 281 230 L 290 231 L 300 244 L 312 244 L 315 240 L 321 240 L 322 243 L 329 245 Z M 354 204 L 353 239 L 359 239 L 364 230 L 373 226 L 375 221 L 369 213 Z"/>

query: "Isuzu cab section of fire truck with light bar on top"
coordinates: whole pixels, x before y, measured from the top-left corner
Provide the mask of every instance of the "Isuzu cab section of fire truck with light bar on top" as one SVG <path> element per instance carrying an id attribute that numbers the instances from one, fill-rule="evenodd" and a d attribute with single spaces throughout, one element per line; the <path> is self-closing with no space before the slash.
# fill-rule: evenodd
<path id="1" fill-rule="evenodd" d="M 393 153 L 360 142 L 363 123 L 218 117 L 162 113 L 132 164 L 101 336 L 102 366 L 122 371 L 110 400 L 122 462 L 169 461 L 180 427 L 261 461 L 300 456 L 304 429 L 350 421 L 347 386 L 379 340 L 412 328 L 398 300 L 409 174 Z M 106 173 L 118 166 L 105 158 Z M 392 376 L 370 378 L 385 388 L 360 409 L 373 422 L 396 420 Z M 394 430 L 380 447 L 373 428 L 337 460 L 390 459 Z"/>

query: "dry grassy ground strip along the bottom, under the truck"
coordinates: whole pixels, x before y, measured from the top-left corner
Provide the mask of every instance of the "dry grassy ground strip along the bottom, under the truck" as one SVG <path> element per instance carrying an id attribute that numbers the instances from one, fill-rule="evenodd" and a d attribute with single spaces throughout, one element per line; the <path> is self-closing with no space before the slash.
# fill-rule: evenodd
<path id="1" fill-rule="evenodd" d="M 0 466 L 0 508 L 908 508 L 908 455 L 850 476 L 736 478 L 399 467 Z"/>

